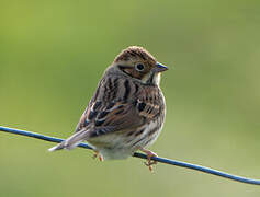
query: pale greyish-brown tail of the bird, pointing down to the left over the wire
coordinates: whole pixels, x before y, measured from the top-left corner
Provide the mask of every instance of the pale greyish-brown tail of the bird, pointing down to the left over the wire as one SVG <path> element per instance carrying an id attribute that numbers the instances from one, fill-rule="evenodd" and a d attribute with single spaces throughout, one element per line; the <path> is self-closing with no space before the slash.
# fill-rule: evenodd
<path id="1" fill-rule="evenodd" d="M 81 130 L 69 137 L 68 139 L 64 140 L 61 143 L 48 149 L 48 151 L 53 152 L 56 150 L 71 150 L 78 147 L 79 143 L 87 140 L 88 132 L 86 130 Z"/>

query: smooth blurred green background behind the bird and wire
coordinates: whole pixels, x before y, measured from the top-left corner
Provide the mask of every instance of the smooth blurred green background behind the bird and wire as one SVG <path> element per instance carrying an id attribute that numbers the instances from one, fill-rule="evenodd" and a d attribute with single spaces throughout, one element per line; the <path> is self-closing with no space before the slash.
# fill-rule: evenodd
<path id="1" fill-rule="evenodd" d="M 0 124 L 66 138 L 115 55 L 146 47 L 162 76 L 161 157 L 260 178 L 260 1 L 1 1 Z M 173 69 L 174 68 L 174 69 Z M 260 188 L 0 132 L 0 196 L 236 196 Z"/>

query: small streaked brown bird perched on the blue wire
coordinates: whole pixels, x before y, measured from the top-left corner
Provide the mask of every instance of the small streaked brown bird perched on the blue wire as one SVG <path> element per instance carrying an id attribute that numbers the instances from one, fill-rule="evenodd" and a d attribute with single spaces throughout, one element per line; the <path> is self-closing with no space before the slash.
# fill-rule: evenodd
<path id="1" fill-rule="evenodd" d="M 97 91 L 83 112 L 75 134 L 49 151 L 71 150 L 82 141 L 93 149 L 93 158 L 126 159 L 135 151 L 152 157 L 147 149 L 162 129 L 166 101 L 159 86 L 161 72 L 168 68 L 140 46 L 123 49 L 103 73 Z"/>

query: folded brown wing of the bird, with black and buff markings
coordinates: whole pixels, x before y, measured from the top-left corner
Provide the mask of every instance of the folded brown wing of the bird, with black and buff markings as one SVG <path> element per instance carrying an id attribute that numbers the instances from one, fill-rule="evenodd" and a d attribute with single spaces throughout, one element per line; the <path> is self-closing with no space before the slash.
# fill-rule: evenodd
<path id="1" fill-rule="evenodd" d="M 114 131 L 127 131 L 149 123 L 160 115 L 163 105 L 159 100 L 149 100 L 140 94 L 133 102 L 91 102 L 82 114 L 76 132 L 86 130 L 90 137 Z M 156 96 L 154 94 L 154 96 Z M 160 95 L 158 95 L 160 96 Z"/>

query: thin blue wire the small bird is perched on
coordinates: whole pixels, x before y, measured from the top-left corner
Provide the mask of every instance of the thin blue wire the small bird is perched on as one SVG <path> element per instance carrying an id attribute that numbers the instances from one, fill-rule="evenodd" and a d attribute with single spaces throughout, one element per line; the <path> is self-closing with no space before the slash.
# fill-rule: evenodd
<path id="1" fill-rule="evenodd" d="M 26 130 L 2 127 L 2 126 L 0 126 L 0 131 L 26 136 L 26 137 L 31 137 L 31 138 L 45 140 L 45 141 L 56 142 L 56 143 L 64 141 L 64 139 L 44 136 L 41 134 L 26 131 Z M 84 149 L 92 149 L 87 143 L 80 143 L 78 147 L 84 148 Z M 140 158 L 140 159 L 147 159 L 146 154 L 143 154 L 139 152 L 135 152 L 133 157 Z M 214 169 L 210 169 L 210 167 L 205 167 L 205 166 L 201 166 L 201 165 L 196 165 L 196 164 L 192 164 L 192 163 L 186 163 L 186 162 L 182 162 L 182 161 L 170 160 L 170 159 L 159 158 L 159 157 L 152 157 L 151 160 L 160 162 L 160 163 L 166 163 L 166 164 L 170 164 L 170 165 L 176 165 L 176 166 L 180 166 L 180 167 L 200 171 L 203 173 L 221 176 L 221 177 L 233 179 L 233 181 L 240 182 L 240 183 L 246 183 L 246 184 L 251 184 L 251 185 L 260 185 L 260 179 L 252 179 L 252 178 L 247 178 L 247 177 L 242 177 L 242 176 L 237 176 L 237 175 L 228 174 L 228 173 L 225 173 L 222 171 L 217 171 Z"/>

